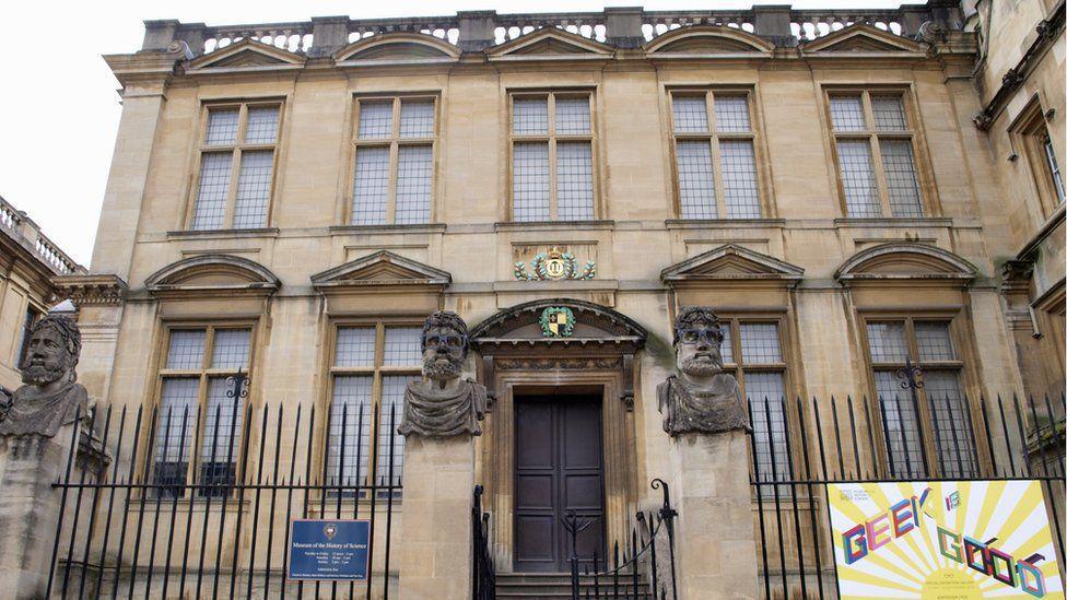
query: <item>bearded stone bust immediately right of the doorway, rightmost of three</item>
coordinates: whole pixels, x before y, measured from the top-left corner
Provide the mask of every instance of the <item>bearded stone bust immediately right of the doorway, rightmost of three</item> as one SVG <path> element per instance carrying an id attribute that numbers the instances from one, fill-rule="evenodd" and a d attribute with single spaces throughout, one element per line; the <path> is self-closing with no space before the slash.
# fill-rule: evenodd
<path id="1" fill-rule="evenodd" d="M 723 330 L 712 309 L 682 308 L 675 319 L 673 344 L 678 375 L 656 389 L 664 431 L 672 436 L 752 431 L 741 388 L 723 372 Z"/>

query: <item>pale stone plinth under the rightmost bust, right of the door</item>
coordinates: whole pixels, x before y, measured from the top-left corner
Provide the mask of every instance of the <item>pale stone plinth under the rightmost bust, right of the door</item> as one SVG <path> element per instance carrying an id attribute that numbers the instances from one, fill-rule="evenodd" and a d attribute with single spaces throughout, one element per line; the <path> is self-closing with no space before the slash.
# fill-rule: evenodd
<path id="1" fill-rule="evenodd" d="M 678 598 L 758 598 L 747 435 L 681 434 L 669 452 Z"/>

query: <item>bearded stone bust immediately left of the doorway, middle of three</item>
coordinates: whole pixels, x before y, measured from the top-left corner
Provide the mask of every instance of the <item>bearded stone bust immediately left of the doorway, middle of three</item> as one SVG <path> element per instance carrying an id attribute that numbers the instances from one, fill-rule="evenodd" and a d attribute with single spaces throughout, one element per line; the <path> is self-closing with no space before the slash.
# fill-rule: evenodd
<path id="1" fill-rule="evenodd" d="M 422 379 L 408 384 L 404 436 L 452 437 L 481 435 L 485 416 L 485 387 L 461 377 L 470 342 L 459 315 L 437 310 L 422 326 Z"/>

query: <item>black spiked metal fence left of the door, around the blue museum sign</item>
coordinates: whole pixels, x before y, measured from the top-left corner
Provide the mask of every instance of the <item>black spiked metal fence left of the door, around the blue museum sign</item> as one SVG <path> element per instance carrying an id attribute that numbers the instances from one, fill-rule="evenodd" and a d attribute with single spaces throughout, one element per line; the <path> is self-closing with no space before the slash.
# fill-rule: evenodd
<path id="1" fill-rule="evenodd" d="M 238 383 L 203 410 L 91 412 L 82 445 L 106 449 L 109 462 L 94 470 L 79 458 L 55 483 L 62 517 L 50 598 L 396 595 L 396 408 L 353 403 L 321 414 L 255 407 L 244 396 Z M 294 518 L 367 519 L 366 579 L 290 580 Z"/>

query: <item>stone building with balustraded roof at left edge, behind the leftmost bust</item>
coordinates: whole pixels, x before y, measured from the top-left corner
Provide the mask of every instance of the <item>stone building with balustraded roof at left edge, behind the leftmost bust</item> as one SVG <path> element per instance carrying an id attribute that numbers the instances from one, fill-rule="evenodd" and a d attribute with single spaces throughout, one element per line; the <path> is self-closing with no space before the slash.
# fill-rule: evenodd
<path id="1" fill-rule="evenodd" d="M 22 385 L 26 331 L 62 299 L 54 278 L 83 273 L 25 212 L 0 198 L 0 392 Z"/>

